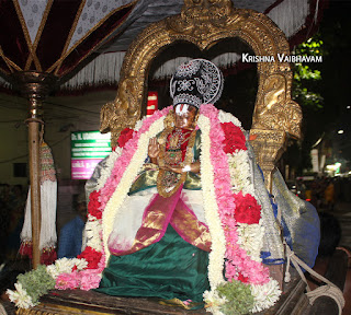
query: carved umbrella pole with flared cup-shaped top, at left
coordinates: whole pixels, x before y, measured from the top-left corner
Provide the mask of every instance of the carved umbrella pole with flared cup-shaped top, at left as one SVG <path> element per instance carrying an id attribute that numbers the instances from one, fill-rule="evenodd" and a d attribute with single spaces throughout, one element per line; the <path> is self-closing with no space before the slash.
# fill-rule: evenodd
<path id="1" fill-rule="evenodd" d="M 24 71 L 12 74 L 13 85 L 29 100 L 30 113 L 26 119 L 29 127 L 30 183 L 31 183 L 31 221 L 33 244 L 33 268 L 41 262 L 41 160 L 39 130 L 44 124 L 42 102 L 55 84 L 56 78 L 48 73 Z"/>

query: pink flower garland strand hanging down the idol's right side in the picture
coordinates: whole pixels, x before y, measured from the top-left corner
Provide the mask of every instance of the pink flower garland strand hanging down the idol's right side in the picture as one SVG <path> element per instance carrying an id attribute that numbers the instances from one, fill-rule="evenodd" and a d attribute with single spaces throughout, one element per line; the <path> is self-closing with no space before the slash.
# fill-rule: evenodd
<path id="1" fill-rule="evenodd" d="M 237 223 L 235 220 L 236 199 L 231 192 L 230 173 L 227 155 L 224 152 L 224 130 L 218 119 L 218 109 L 211 104 L 202 105 L 200 113 L 211 121 L 211 163 L 214 173 L 214 186 L 219 218 L 226 237 L 226 278 L 231 281 L 244 280 L 252 284 L 269 282 L 269 269 L 252 260 L 238 245 Z M 253 198 L 249 194 L 248 198 Z M 241 196 L 240 196 L 241 197 Z"/>

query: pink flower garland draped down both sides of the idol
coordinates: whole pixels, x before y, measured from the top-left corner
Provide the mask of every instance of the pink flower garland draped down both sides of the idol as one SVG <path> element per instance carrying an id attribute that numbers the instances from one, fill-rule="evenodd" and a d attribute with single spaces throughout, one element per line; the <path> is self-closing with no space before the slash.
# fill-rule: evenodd
<path id="1" fill-rule="evenodd" d="M 124 143 L 125 147 L 123 149 L 123 154 L 116 160 L 105 185 L 99 191 L 93 191 L 91 195 L 91 205 L 88 208 L 89 213 L 92 217 L 101 220 L 102 212 L 107 201 L 112 197 L 126 167 L 134 158 L 140 135 L 147 132 L 150 126 L 162 116 L 166 116 L 171 108 L 172 106 L 169 106 L 146 118 L 143 121 L 143 126 L 139 131 L 134 132 L 133 138 Z M 264 268 L 261 262 L 250 259 L 246 250 L 240 248 L 237 244 L 238 233 L 235 220 L 236 199 L 235 195 L 231 192 L 228 161 L 227 155 L 224 152 L 223 144 L 225 133 L 218 120 L 218 109 L 210 104 L 203 105 L 201 107 L 201 114 L 210 118 L 211 121 L 211 162 L 216 170 L 214 174 L 216 200 L 222 225 L 225 231 L 225 237 L 227 240 L 226 258 L 228 260 L 226 262 L 226 278 L 229 281 L 231 281 L 231 279 L 236 279 L 244 282 L 263 284 L 269 281 L 268 268 Z M 242 143 L 239 144 L 239 148 L 241 150 L 246 149 L 242 148 Z M 250 195 L 247 196 L 253 198 Z M 102 248 L 102 252 L 99 253 L 88 246 L 80 257 L 87 259 L 89 262 L 88 268 L 82 271 L 72 270 L 70 273 L 59 275 L 56 280 L 56 289 L 65 290 L 80 288 L 82 290 L 90 290 L 99 287 L 101 272 L 105 268 L 106 264 L 104 249 Z M 101 258 L 99 259 L 99 257 Z"/>

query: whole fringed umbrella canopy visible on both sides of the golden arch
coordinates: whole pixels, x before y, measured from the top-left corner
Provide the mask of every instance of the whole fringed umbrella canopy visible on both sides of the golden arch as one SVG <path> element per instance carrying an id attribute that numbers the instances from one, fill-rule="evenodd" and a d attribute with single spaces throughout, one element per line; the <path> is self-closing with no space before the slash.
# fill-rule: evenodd
<path id="1" fill-rule="evenodd" d="M 313 34 L 326 1 L 233 2 L 270 16 L 295 45 Z M 9 75 L 31 70 L 52 73 L 64 83 L 98 56 L 99 65 L 90 62 L 84 70 L 90 74 L 80 75 L 80 83 L 117 82 L 124 51 L 133 39 L 150 23 L 179 14 L 182 5 L 179 0 L 0 1 L 0 83 L 11 88 Z M 111 62 L 112 70 L 92 73 L 92 68 Z"/>

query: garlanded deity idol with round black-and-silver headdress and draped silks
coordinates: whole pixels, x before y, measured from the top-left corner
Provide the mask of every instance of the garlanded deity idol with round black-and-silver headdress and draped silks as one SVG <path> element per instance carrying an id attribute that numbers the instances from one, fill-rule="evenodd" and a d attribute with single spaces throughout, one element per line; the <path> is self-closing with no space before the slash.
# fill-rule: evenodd
<path id="1" fill-rule="evenodd" d="M 240 121 L 213 105 L 222 90 L 213 62 L 191 60 L 171 79 L 173 104 L 121 132 L 86 185 L 84 250 L 47 267 L 56 289 L 247 314 L 280 299 L 282 236 L 314 265 L 316 209 L 279 171 L 272 198 Z"/>

